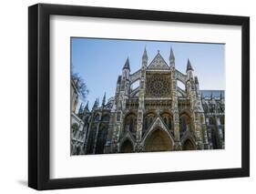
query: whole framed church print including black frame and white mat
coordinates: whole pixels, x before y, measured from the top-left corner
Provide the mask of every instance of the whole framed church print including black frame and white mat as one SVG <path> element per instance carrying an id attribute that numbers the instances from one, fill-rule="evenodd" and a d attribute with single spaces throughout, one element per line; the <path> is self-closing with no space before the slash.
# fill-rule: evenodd
<path id="1" fill-rule="evenodd" d="M 28 8 L 28 185 L 250 175 L 250 19 Z"/>

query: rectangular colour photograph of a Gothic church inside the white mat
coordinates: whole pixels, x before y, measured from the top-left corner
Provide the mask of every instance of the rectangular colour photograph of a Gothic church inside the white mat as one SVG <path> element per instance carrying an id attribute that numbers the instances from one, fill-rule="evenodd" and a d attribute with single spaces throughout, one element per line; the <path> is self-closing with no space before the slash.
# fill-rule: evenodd
<path id="1" fill-rule="evenodd" d="M 70 156 L 225 149 L 225 43 L 70 37 Z"/>

